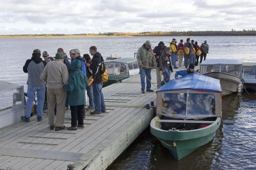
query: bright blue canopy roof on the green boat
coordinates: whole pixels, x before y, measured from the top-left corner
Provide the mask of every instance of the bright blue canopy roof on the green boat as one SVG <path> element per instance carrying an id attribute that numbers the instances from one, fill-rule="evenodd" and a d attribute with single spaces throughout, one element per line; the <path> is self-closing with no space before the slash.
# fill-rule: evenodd
<path id="1" fill-rule="evenodd" d="M 156 92 L 185 89 L 221 92 L 220 80 L 198 73 L 191 73 L 176 80 L 168 81 Z"/>

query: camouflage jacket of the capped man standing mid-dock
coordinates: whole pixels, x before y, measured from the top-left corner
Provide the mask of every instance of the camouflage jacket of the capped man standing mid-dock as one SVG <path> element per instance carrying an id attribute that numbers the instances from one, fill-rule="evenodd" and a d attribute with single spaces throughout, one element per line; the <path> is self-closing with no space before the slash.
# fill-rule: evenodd
<path id="1" fill-rule="evenodd" d="M 156 67 L 156 59 L 152 48 L 147 49 L 143 44 L 137 52 L 138 65 L 143 65 L 144 69 Z"/>

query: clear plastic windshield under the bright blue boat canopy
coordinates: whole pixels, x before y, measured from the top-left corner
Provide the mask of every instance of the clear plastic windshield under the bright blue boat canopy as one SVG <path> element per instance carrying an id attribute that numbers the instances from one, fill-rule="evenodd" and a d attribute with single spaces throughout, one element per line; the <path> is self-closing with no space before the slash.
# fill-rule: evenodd
<path id="1" fill-rule="evenodd" d="M 214 117 L 215 95 L 209 93 L 170 93 L 162 96 L 162 113 L 167 117 Z"/>

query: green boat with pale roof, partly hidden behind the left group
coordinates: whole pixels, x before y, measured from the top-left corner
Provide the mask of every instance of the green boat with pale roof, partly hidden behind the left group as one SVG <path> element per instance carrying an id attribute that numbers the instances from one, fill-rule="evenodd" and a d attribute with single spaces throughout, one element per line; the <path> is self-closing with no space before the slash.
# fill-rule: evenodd
<path id="1" fill-rule="evenodd" d="M 108 82 L 103 82 L 103 87 L 140 73 L 136 58 L 106 60 L 104 63 L 108 69 Z"/>

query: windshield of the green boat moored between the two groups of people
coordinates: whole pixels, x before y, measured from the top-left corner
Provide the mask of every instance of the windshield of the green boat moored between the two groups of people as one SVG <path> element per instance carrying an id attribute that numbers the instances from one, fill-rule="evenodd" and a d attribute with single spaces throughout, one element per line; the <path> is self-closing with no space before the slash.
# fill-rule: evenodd
<path id="1" fill-rule="evenodd" d="M 105 62 L 105 66 L 108 69 L 109 76 L 129 75 L 127 70 L 127 64 L 123 62 Z"/>

